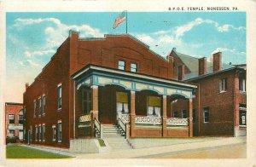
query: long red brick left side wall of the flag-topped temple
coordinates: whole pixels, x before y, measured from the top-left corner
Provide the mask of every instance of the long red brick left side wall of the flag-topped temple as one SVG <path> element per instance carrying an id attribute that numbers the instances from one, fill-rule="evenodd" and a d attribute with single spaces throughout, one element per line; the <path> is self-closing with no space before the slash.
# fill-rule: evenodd
<path id="1" fill-rule="evenodd" d="M 56 54 L 52 57 L 49 64 L 44 67 L 42 73 L 35 78 L 34 83 L 30 85 L 24 93 L 24 106 L 26 107 L 26 134 L 32 125 L 32 139 L 33 143 L 53 145 L 58 147 L 69 146 L 69 41 L 62 43 L 61 47 L 57 50 Z M 58 110 L 57 94 L 58 84 L 61 83 L 62 87 L 62 106 Z M 45 115 L 39 117 L 39 103 L 38 97 L 45 95 L 46 106 Z M 37 101 L 37 115 L 33 117 L 33 101 Z M 58 120 L 61 120 L 62 128 L 62 142 L 52 142 L 52 125 L 55 124 L 57 130 Z M 35 124 L 45 124 L 45 142 L 35 142 Z"/>

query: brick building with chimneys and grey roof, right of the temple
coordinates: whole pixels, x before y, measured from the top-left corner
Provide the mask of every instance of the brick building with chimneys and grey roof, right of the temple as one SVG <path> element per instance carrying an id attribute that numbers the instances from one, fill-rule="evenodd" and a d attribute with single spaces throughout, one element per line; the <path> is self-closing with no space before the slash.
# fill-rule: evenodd
<path id="1" fill-rule="evenodd" d="M 173 78 L 195 83 L 194 135 L 245 135 L 247 115 L 246 65 L 222 63 L 222 54 L 197 59 L 172 49 Z M 186 100 L 172 106 L 175 117 L 188 110 Z M 174 117 L 174 116 L 173 116 Z"/>

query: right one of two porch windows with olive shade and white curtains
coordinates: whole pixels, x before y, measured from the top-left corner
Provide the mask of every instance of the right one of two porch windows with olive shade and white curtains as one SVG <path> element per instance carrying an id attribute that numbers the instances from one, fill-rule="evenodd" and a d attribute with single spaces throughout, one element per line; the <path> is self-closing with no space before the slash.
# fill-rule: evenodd
<path id="1" fill-rule="evenodd" d="M 148 116 L 160 117 L 160 97 L 148 96 Z"/>

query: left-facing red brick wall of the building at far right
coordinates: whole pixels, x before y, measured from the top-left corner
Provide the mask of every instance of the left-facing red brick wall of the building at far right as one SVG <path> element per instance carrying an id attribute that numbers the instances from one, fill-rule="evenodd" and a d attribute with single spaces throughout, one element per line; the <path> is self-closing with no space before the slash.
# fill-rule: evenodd
<path id="1" fill-rule="evenodd" d="M 199 89 L 196 89 L 193 101 L 193 108 L 196 110 L 194 135 L 234 134 L 234 77 L 233 72 L 225 72 L 195 82 L 200 83 L 200 97 Z M 223 93 L 219 92 L 221 78 L 227 78 L 228 82 L 228 89 Z M 204 107 L 209 107 L 209 123 L 204 123 Z"/>

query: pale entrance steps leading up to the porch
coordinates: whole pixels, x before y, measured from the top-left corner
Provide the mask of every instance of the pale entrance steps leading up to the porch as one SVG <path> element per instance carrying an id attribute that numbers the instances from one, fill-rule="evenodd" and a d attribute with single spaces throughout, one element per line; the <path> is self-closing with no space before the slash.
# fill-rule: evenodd
<path id="1" fill-rule="evenodd" d="M 108 142 L 112 150 L 131 149 L 119 127 L 115 124 L 102 124 L 103 139 Z"/>

